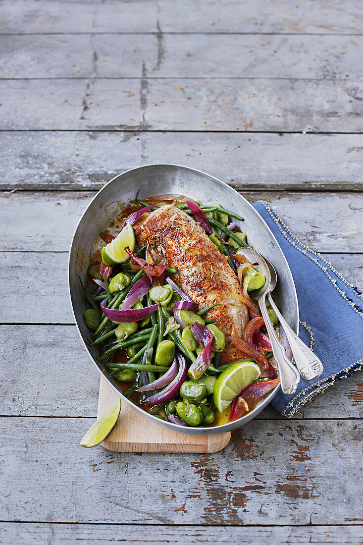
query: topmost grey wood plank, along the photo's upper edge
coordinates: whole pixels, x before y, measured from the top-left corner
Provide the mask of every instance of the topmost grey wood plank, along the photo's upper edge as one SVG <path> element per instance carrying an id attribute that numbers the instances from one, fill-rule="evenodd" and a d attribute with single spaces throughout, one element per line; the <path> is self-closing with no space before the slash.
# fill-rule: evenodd
<path id="1" fill-rule="evenodd" d="M 1 33 L 237 32 L 361 34 L 354 0 L 235 3 L 172 0 L 126 3 L 2 0 Z M 221 9 L 222 8 L 222 9 Z"/>

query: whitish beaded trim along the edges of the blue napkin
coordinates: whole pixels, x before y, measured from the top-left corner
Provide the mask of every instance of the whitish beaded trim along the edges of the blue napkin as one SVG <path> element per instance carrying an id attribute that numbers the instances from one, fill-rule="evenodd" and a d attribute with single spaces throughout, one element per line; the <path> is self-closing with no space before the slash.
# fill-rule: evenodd
<path id="1" fill-rule="evenodd" d="M 337 286 L 335 278 L 332 278 L 330 276 L 330 274 L 328 272 L 328 269 L 330 269 L 332 272 L 334 272 L 334 274 L 338 278 L 340 278 L 340 280 L 344 284 L 349 286 L 349 288 L 352 290 L 352 292 L 359 299 L 363 300 L 363 294 L 360 293 L 358 291 L 358 289 L 353 286 L 353 284 L 350 284 L 343 277 L 343 275 L 340 272 L 336 271 L 334 269 L 334 267 L 332 267 L 330 262 L 326 261 L 326 259 L 324 259 L 319 253 L 314 252 L 314 250 L 311 250 L 308 246 L 302 244 L 300 242 L 300 240 L 297 237 L 295 237 L 295 235 L 292 234 L 292 232 L 287 227 L 287 225 L 285 225 L 285 223 L 281 220 L 281 217 L 271 207 L 271 204 L 269 202 L 267 202 L 267 201 L 258 201 L 258 202 L 263 204 L 265 209 L 270 214 L 271 218 L 276 223 L 277 227 L 279 227 L 279 231 L 281 232 L 283 237 L 286 238 L 288 243 L 291 244 L 296 250 L 301 252 L 303 255 L 305 255 L 309 259 L 311 259 L 311 261 L 313 263 L 315 263 L 319 267 L 319 269 L 322 269 L 324 274 L 329 278 L 330 282 L 334 285 L 335 289 L 342 296 L 342 298 L 348 303 L 350 308 L 352 308 L 352 310 L 354 310 L 354 312 L 358 313 L 359 316 L 361 318 L 363 318 L 363 312 L 362 312 L 361 308 L 359 306 L 355 305 L 354 301 L 352 301 L 352 299 L 349 299 L 347 297 L 346 292 L 343 292 L 343 290 L 341 290 Z M 314 258 L 312 256 L 309 256 L 307 254 L 307 252 L 310 252 L 313 256 L 316 256 L 316 258 Z M 318 260 L 322 261 L 326 265 L 326 267 L 323 267 L 322 264 L 320 264 Z M 307 332 L 308 332 L 308 334 L 310 336 L 310 348 L 312 348 L 313 344 L 314 344 L 313 332 L 311 331 L 311 328 L 306 325 L 306 322 L 301 322 L 301 320 L 300 320 L 300 324 L 302 326 L 304 326 L 304 328 L 307 330 Z M 342 369 L 338 373 L 334 373 L 334 374 L 330 375 L 330 377 L 326 377 L 326 378 L 324 378 L 322 380 L 319 380 L 317 383 L 311 384 L 310 386 L 304 388 L 304 390 L 301 390 L 301 392 L 299 392 L 296 396 L 294 396 L 291 399 L 291 401 L 289 401 L 289 403 L 286 405 L 285 409 L 283 409 L 281 414 L 284 415 L 284 416 L 287 416 L 288 418 L 291 418 L 294 414 L 296 414 L 298 412 L 298 410 L 300 409 L 300 407 L 302 407 L 302 405 L 305 405 L 305 403 L 307 401 L 309 401 L 309 399 L 312 399 L 318 393 L 323 392 L 329 386 L 332 386 L 333 384 L 335 384 L 338 380 L 340 380 L 342 378 L 347 378 L 350 373 L 355 372 L 355 371 L 360 371 L 362 368 L 363 368 L 363 359 L 356 361 L 354 364 L 350 365 L 346 369 Z M 294 402 L 297 401 L 297 400 L 298 400 L 298 402 L 294 406 Z"/>

